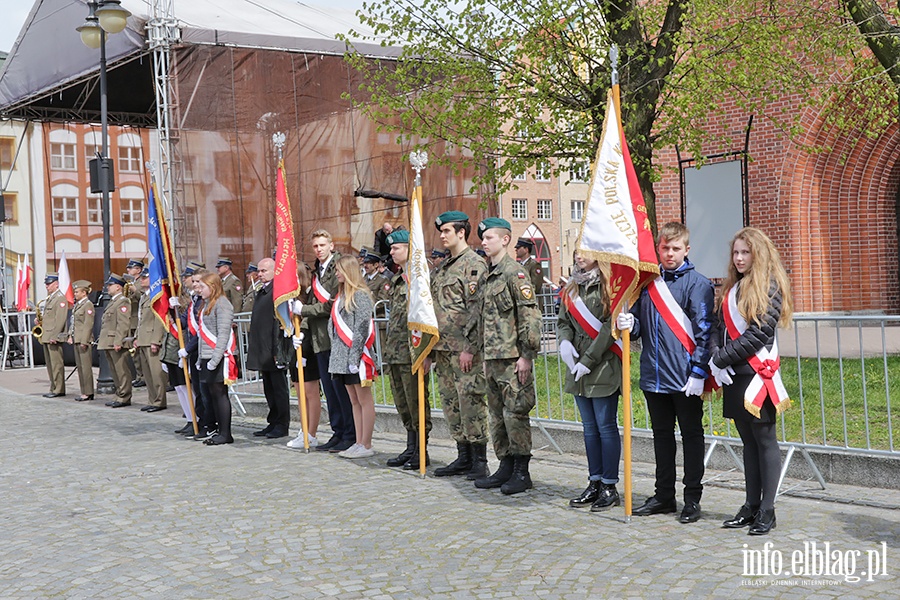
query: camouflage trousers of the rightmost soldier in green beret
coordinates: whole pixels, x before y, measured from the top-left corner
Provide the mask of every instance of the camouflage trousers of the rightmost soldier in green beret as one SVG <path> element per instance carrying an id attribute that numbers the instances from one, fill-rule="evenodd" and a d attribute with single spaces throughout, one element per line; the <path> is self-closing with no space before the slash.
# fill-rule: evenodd
<path id="1" fill-rule="evenodd" d="M 488 411 L 491 414 L 491 440 L 497 458 L 531 454 L 531 421 L 528 413 L 537 398 L 534 377 L 519 383 L 516 359 L 484 361 L 488 386 Z"/>

